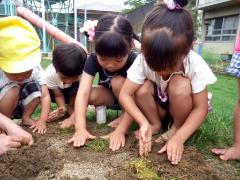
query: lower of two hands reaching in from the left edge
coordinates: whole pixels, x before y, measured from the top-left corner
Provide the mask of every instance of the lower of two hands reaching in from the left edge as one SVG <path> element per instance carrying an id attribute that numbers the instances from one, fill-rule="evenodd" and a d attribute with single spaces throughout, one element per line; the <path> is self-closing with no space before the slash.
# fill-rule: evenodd
<path id="1" fill-rule="evenodd" d="M 21 138 L 16 136 L 8 136 L 6 134 L 0 134 L 0 154 L 4 154 L 7 151 L 17 150 L 21 147 Z"/>

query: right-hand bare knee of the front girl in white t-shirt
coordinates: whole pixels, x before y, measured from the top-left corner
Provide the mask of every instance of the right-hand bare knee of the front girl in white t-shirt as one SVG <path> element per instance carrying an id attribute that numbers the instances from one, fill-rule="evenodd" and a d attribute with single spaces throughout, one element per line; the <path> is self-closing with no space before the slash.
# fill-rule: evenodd
<path id="1" fill-rule="evenodd" d="M 168 84 L 168 95 L 170 98 L 191 96 L 191 82 L 188 78 L 175 75 L 171 78 Z"/>

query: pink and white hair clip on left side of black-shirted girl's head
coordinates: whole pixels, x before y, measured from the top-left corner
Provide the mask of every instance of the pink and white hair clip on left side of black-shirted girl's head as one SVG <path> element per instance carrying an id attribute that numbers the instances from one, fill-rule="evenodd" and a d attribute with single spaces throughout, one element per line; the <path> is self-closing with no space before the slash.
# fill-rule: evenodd
<path id="1" fill-rule="evenodd" d="M 80 28 L 81 33 L 86 33 L 88 35 L 88 39 L 90 42 L 94 40 L 95 27 L 97 26 L 97 23 L 97 20 L 87 20 L 84 22 L 83 27 Z"/>

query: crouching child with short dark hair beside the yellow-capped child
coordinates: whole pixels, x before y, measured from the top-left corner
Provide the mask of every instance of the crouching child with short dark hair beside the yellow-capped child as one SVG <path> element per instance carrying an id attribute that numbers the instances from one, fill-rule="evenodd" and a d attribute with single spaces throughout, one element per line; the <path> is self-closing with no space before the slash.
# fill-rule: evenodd
<path id="1" fill-rule="evenodd" d="M 57 103 L 58 108 L 49 114 L 48 121 L 59 119 L 66 112 L 70 115 L 73 113 L 79 79 L 86 59 L 86 52 L 74 43 L 62 44 L 54 49 L 52 64 L 45 72 L 51 100 Z M 65 104 L 68 104 L 68 110 Z M 64 120 L 61 128 L 71 126 L 72 120 L 74 119 Z"/>

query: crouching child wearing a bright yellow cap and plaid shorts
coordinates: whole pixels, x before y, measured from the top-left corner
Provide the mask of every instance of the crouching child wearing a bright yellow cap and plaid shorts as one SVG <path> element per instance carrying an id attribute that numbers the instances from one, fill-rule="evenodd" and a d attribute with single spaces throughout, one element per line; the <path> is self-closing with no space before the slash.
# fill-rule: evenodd
<path id="1" fill-rule="evenodd" d="M 40 66 L 40 40 L 32 25 L 19 17 L 0 19 L 0 112 L 22 118 L 33 132 L 44 134 L 50 109 Z M 38 121 L 31 116 L 41 102 Z"/>

